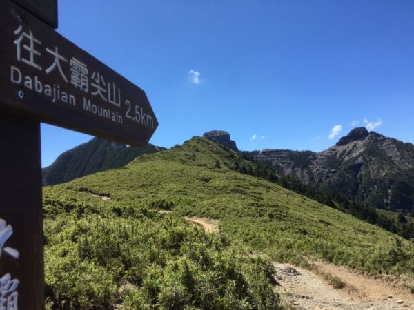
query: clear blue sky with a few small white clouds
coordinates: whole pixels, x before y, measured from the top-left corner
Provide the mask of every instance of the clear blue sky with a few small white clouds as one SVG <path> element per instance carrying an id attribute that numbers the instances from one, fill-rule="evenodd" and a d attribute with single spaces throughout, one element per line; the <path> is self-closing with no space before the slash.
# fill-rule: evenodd
<path id="1" fill-rule="evenodd" d="M 354 126 L 414 142 L 414 1 L 59 0 L 58 32 L 146 91 L 170 147 L 319 151 Z M 355 123 L 358 122 L 358 123 Z M 42 165 L 90 136 L 42 125 Z"/>

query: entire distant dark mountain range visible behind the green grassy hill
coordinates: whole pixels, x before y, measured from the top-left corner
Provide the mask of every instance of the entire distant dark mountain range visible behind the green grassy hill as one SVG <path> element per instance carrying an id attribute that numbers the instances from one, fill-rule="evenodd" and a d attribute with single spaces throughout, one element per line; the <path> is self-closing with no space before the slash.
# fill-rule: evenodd
<path id="1" fill-rule="evenodd" d="M 228 132 L 213 130 L 204 137 L 237 151 Z M 127 147 L 93 138 L 64 152 L 44 168 L 43 184 L 64 183 L 123 167 L 137 156 L 163 149 L 154 145 Z M 322 152 L 263 149 L 243 153 L 279 174 L 293 176 L 324 192 L 343 194 L 370 207 L 414 213 L 414 145 L 411 143 L 359 127 Z"/>

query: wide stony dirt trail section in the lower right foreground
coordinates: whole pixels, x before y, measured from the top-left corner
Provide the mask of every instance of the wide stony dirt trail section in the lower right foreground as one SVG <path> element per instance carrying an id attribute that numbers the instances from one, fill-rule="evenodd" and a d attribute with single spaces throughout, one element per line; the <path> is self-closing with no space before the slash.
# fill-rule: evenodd
<path id="1" fill-rule="evenodd" d="M 407 288 L 353 273 L 345 267 L 313 264 L 316 271 L 275 263 L 275 279 L 280 284 L 277 291 L 293 309 L 414 310 L 414 296 Z M 321 273 L 338 277 L 346 286 L 334 289 Z"/>

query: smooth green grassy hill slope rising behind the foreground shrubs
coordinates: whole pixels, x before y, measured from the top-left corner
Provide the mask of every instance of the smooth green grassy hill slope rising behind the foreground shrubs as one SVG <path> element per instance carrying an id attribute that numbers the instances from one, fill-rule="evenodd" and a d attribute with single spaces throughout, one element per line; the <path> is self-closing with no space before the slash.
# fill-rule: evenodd
<path id="1" fill-rule="evenodd" d="M 229 238 L 274 260 L 303 262 L 304 256 L 313 256 L 368 273 L 413 274 L 412 242 L 266 180 L 234 172 L 229 167 L 237 158 L 216 143 L 193 138 L 121 169 L 46 187 L 44 194 L 106 203 L 78 191 L 86 187 L 110 194 L 111 203 L 173 205 L 174 214 L 221 220 Z"/>

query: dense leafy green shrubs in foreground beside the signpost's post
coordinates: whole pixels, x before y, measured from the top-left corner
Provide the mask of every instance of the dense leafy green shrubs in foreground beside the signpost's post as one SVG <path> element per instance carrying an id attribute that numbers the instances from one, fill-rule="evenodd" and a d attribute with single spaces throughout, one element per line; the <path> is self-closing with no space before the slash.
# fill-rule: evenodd
<path id="1" fill-rule="evenodd" d="M 268 260 L 178 216 L 126 208 L 46 217 L 48 309 L 279 309 Z"/>

